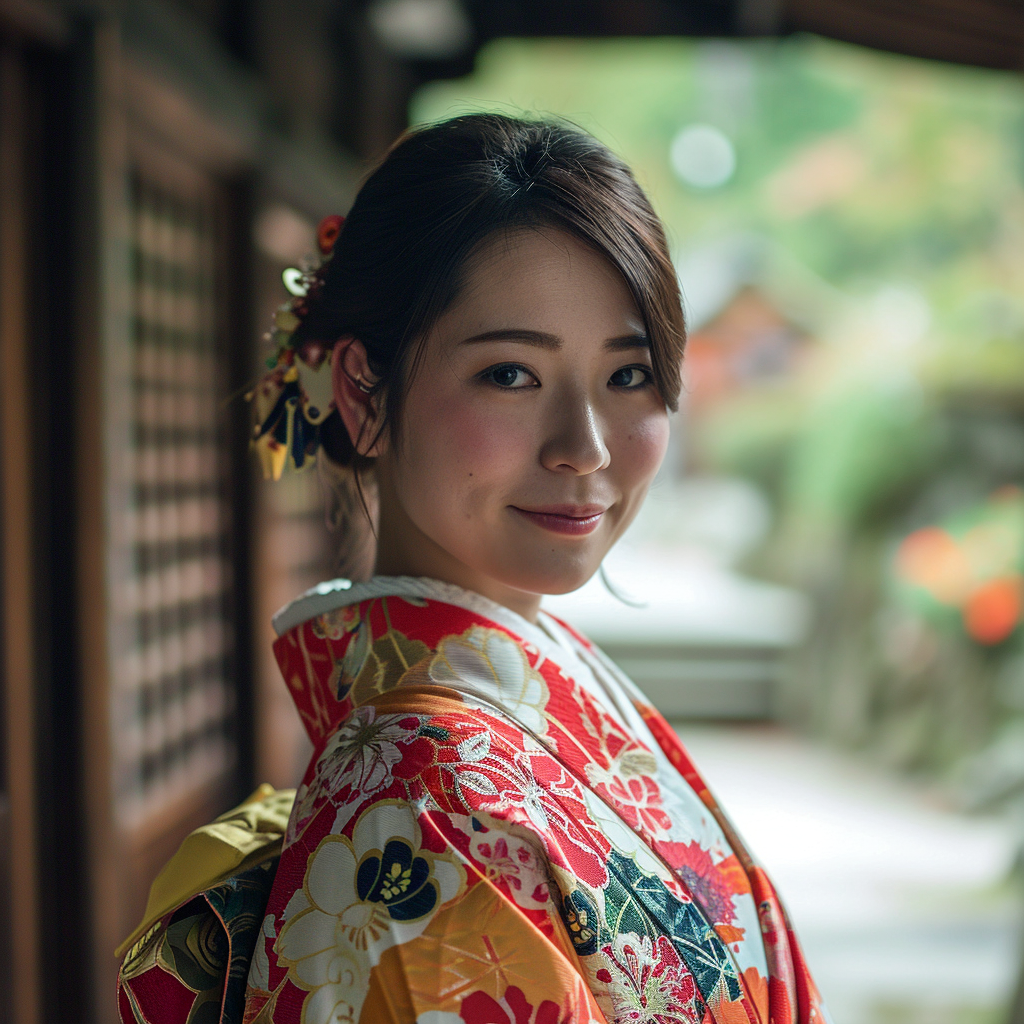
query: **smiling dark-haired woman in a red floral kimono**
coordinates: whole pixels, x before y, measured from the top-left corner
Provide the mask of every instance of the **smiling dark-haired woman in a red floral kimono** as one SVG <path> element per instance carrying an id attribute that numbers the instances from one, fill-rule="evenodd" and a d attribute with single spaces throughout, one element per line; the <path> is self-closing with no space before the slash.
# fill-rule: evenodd
<path id="1" fill-rule="evenodd" d="M 368 536 L 360 582 L 275 617 L 315 746 L 280 862 L 267 802 L 222 822 L 256 838 L 157 900 L 124 1019 L 823 1019 L 673 730 L 540 610 L 635 516 L 679 393 L 676 275 L 629 170 L 562 124 L 457 118 L 400 139 L 322 248 L 256 444 L 274 473 L 323 447 L 340 507 L 376 508 L 375 574 Z M 319 410 L 298 368 L 328 355 Z"/>

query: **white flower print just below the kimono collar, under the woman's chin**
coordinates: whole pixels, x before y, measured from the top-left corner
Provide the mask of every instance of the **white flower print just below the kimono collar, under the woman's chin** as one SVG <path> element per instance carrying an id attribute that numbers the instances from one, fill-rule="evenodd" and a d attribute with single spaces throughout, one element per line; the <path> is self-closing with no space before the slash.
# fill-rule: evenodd
<path id="1" fill-rule="evenodd" d="M 445 637 L 430 663 L 430 678 L 499 703 L 538 735 L 547 731 L 548 685 L 520 644 L 501 630 L 472 626 L 462 636 Z"/>

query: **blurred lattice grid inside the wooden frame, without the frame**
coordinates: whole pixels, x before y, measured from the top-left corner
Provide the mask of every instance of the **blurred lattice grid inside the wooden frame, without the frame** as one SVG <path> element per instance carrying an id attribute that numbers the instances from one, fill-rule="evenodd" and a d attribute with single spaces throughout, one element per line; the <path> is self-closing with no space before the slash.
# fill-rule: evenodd
<path id="1" fill-rule="evenodd" d="M 212 189 L 131 182 L 131 444 L 117 801 L 152 814 L 236 756 Z"/>

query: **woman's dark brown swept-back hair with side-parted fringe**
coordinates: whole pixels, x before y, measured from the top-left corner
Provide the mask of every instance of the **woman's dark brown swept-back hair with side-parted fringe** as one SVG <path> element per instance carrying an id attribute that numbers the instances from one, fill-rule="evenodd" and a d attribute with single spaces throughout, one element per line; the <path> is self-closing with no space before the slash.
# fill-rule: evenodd
<path id="1" fill-rule="evenodd" d="M 686 333 L 662 223 L 626 164 L 563 122 L 470 114 L 406 132 L 359 189 L 295 344 L 358 338 L 378 378 L 380 429 L 396 436 L 417 343 L 458 296 L 467 262 L 496 232 L 537 226 L 571 232 L 623 275 L 675 410 Z M 322 444 L 337 466 L 366 465 L 336 413 Z"/>

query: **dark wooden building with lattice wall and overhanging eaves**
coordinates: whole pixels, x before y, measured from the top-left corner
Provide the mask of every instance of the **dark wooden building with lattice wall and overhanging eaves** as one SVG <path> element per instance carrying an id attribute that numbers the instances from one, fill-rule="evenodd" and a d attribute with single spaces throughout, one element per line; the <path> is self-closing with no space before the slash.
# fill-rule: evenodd
<path id="1" fill-rule="evenodd" d="M 330 573 L 331 540 L 315 476 L 266 488 L 227 399 L 281 269 L 417 84 L 502 35 L 1024 55 L 999 0 L 451 0 L 430 39 L 402 4 L 0 0 L 0 1022 L 115 1020 L 113 949 L 157 865 L 294 781 L 269 614 Z"/>

